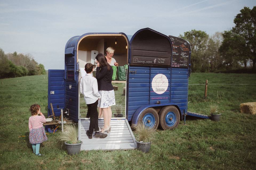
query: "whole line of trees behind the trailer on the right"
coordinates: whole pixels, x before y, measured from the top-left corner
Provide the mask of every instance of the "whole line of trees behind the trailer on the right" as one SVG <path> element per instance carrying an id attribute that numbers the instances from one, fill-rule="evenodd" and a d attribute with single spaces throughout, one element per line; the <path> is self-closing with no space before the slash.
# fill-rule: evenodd
<path id="1" fill-rule="evenodd" d="M 193 72 L 215 72 L 247 68 L 256 70 L 256 6 L 244 7 L 235 16 L 235 26 L 209 36 L 205 31 L 191 30 L 179 37 L 191 48 Z"/>

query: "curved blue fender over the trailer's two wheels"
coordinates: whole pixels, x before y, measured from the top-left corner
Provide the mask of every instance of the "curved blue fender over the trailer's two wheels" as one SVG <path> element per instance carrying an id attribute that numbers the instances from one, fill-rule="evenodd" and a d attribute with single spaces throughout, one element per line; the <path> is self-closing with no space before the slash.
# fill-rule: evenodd
<path id="1" fill-rule="evenodd" d="M 139 107 L 135 113 L 133 114 L 133 117 L 131 119 L 131 123 L 132 124 L 137 124 L 138 123 L 138 119 L 139 119 L 139 116 L 141 115 L 141 113 L 147 109 L 147 108 L 154 108 L 154 107 L 165 107 L 165 106 L 170 106 L 170 105 L 173 105 L 175 107 L 177 107 L 177 109 L 179 110 L 179 114 L 181 116 L 181 119 L 182 119 L 182 115 L 181 115 L 181 109 L 179 108 L 179 106 L 175 103 L 163 103 L 163 104 L 150 104 L 150 105 L 145 105 L 145 106 L 141 106 Z"/>

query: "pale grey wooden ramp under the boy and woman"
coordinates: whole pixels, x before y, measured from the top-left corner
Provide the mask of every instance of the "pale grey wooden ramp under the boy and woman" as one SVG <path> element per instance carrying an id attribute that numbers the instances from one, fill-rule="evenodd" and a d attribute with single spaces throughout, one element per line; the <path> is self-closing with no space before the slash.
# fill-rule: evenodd
<path id="1" fill-rule="evenodd" d="M 99 127 L 104 125 L 103 120 L 99 120 Z M 111 132 L 106 133 L 107 137 L 100 139 L 89 139 L 86 130 L 89 130 L 90 120 L 81 120 L 78 122 L 78 139 L 83 142 L 81 150 L 130 150 L 137 148 L 135 137 L 130 128 L 127 119 L 111 120 Z"/>

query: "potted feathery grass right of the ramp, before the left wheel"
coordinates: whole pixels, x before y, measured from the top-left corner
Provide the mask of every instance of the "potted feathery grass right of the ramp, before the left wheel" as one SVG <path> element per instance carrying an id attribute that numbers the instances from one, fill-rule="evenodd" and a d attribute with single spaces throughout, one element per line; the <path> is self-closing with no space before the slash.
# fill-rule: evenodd
<path id="1" fill-rule="evenodd" d="M 134 129 L 138 150 L 145 153 L 149 152 L 155 129 L 146 127 L 144 123 L 134 124 L 132 128 Z"/>

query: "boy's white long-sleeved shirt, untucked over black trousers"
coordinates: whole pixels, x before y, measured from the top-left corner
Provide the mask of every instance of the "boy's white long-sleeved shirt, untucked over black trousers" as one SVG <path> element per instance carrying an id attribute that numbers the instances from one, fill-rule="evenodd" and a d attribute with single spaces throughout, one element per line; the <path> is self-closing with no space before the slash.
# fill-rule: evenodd
<path id="1" fill-rule="evenodd" d="M 84 95 L 85 103 L 92 104 L 101 98 L 98 92 L 97 79 L 91 74 L 85 74 L 80 81 L 80 92 Z"/>

